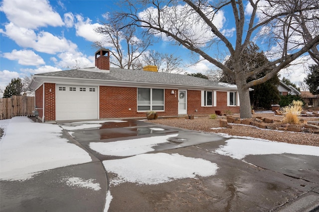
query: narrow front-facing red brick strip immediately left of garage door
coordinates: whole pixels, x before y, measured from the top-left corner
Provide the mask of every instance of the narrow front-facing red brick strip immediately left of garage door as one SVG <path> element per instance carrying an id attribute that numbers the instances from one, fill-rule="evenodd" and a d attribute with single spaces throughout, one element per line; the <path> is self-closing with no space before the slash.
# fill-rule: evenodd
<path id="1" fill-rule="evenodd" d="M 55 121 L 55 83 L 44 83 L 44 93 L 44 119 Z"/>

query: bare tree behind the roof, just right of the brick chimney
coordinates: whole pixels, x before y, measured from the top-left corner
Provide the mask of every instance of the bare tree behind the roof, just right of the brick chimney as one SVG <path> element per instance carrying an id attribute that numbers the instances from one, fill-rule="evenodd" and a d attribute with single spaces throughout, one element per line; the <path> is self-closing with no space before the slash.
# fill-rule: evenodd
<path id="1" fill-rule="evenodd" d="M 133 69 L 137 59 L 152 42 L 148 36 L 144 36 L 143 40 L 139 39 L 136 36 L 137 33 L 134 27 L 120 28 L 119 24 L 111 21 L 104 23 L 101 27 L 97 27 L 95 31 L 104 35 L 106 39 L 105 41 L 95 42 L 93 46 L 111 48 L 112 58 L 115 58 L 115 60 L 110 61 L 111 64 L 121 69 Z"/>

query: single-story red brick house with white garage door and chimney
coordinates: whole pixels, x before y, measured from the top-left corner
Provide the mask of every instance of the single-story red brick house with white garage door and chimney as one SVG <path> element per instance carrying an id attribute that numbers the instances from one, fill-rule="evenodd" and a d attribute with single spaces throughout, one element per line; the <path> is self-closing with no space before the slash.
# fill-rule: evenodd
<path id="1" fill-rule="evenodd" d="M 109 50 L 95 53 L 95 68 L 39 73 L 28 85 L 42 122 L 239 113 L 237 86 L 189 75 L 110 68 Z"/>

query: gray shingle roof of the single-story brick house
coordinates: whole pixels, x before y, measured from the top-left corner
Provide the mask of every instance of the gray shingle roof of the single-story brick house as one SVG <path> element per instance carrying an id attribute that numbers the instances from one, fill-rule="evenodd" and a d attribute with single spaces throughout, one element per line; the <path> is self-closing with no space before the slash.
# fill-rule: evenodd
<path id="1" fill-rule="evenodd" d="M 232 88 L 236 89 L 236 85 L 230 85 L 199 77 L 174 74 L 174 73 L 163 73 L 163 72 L 152 72 L 142 70 L 127 70 L 119 68 L 110 68 L 110 72 L 103 72 L 96 68 L 86 68 L 79 70 L 68 70 L 68 71 L 55 71 L 47 73 L 35 74 L 35 76 L 52 76 L 52 77 L 67 77 L 67 78 L 84 78 L 84 79 L 99 79 L 106 81 L 126 81 L 126 82 L 141 82 L 150 84 L 167 84 L 167 85 L 185 85 L 185 86 L 199 86 L 207 88 Z"/>

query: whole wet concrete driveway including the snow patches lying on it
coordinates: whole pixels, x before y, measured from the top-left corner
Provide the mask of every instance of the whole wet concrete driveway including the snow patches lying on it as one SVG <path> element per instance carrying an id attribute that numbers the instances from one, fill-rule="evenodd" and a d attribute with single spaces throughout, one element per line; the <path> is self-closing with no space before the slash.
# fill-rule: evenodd
<path id="1" fill-rule="evenodd" d="M 303 153 L 303 146 L 136 120 L 59 125 L 92 161 L 2 180 L 1 211 L 319 210 L 318 147 Z M 100 189 L 67 186 L 65 176 L 91 179 Z"/>

